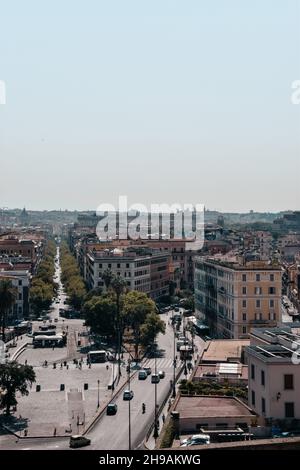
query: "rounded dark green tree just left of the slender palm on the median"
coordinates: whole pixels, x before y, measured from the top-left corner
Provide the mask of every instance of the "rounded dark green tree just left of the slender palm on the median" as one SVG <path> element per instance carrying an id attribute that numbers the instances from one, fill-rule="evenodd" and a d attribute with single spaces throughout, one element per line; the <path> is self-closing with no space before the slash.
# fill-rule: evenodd
<path id="1" fill-rule="evenodd" d="M 86 324 L 92 333 L 112 337 L 115 334 L 117 307 L 111 295 L 94 296 L 83 307 Z"/>

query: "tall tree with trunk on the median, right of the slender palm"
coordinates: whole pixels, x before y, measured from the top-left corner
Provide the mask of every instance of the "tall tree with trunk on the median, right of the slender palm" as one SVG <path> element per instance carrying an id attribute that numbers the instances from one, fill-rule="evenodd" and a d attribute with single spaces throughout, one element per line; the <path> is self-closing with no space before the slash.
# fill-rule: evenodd
<path id="1" fill-rule="evenodd" d="M 126 325 L 133 331 L 135 359 L 138 359 L 138 350 L 141 345 L 141 328 L 148 315 L 156 312 L 153 300 L 144 292 L 128 292 L 124 298 L 123 316 Z"/>

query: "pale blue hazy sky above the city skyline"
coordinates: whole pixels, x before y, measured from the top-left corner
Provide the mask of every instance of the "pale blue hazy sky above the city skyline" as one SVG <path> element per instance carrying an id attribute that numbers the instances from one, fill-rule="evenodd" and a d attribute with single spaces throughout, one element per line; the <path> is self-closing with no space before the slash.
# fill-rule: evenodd
<path id="1" fill-rule="evenodd" d="M 300 0 L 0 0 L 0 207 L 300 209 Z"/>

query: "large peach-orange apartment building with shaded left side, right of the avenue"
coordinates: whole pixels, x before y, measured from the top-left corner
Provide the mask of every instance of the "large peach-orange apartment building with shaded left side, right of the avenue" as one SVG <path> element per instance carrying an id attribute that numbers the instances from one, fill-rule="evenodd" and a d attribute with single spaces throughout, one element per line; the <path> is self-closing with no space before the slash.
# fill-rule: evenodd
<path id="1" fill-rule="evenodd" d="M 281 320 L 281 268 L 241 258 L 196 258 L 196 316 L 218 338 L 243 339 Z"/>

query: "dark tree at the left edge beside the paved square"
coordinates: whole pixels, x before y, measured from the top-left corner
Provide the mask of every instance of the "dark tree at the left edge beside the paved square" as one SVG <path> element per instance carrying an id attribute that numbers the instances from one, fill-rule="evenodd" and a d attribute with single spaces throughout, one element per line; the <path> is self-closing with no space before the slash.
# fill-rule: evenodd
<path id="1" fill-rule="evenodd" d="M 35 382 L 32 366 L 19 364 L 16 361 L 0 364 L 0 408 L 9 414 L 10 407 L 17 405 L 16 393 L 28 395 L 28 386 Z"/>

